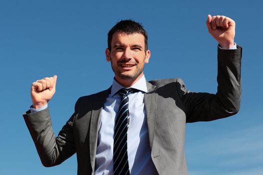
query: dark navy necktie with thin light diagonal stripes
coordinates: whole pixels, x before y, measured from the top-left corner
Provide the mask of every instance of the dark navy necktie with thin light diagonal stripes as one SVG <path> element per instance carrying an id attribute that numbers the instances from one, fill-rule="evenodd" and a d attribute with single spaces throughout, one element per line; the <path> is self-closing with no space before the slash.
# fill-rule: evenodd
<path id="1" fill-rule="evenodd" d="M 128 94 L 131 92 L 131 88 L 122 88 L 118 91 L 121 95 L 121 102 L 114 127 L 113 170 L 115 175 L 130 174 L 127 153 L 127 130 L 130 118 Z"/>

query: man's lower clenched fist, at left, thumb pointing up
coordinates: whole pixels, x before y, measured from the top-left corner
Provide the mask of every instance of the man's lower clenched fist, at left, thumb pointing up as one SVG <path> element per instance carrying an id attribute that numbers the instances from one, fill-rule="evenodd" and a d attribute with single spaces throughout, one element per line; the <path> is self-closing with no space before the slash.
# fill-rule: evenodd
<path id="1" fill-rule="evenodd" d="M 31 98 L 33 107 L 39 109 L 46 105 L 56 91 L 57 75 L 45 77 L 32 83 Z"/>

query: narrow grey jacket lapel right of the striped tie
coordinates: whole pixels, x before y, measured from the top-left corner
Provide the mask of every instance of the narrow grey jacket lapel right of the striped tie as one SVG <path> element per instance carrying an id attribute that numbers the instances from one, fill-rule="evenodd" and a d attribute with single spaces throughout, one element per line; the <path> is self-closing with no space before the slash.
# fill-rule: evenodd
<path id="1" fill-rule="evenodd" d="M 155 130 L 155 120 L 156 120 L 156 109 L 157 109 L 157 93 L 155 90 L 155 85 L 146 82 L 148 92 L 144 95 L 144 103 L 148 124 L 148 133 L 150 147 L 152 148 L 153 136 Z"/>

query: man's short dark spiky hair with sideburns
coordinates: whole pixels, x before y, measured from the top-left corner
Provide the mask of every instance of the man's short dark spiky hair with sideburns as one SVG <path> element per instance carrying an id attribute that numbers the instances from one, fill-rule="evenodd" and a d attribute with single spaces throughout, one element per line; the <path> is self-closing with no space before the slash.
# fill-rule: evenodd
<path id="1" fill-rule="evenodd" d="M 148 50 L 147 32 L 145 31 L 141 23 L 135 22 L 132 19 L 121 20 L 117 22 L 108 32 L 108 48 L 110 51 L 111 51 L 112 36 L 115 32 L 120 32 L 125 34 L 134 34 L 134 33 L 142 34 L 144 36 L 145 51 Z"/>

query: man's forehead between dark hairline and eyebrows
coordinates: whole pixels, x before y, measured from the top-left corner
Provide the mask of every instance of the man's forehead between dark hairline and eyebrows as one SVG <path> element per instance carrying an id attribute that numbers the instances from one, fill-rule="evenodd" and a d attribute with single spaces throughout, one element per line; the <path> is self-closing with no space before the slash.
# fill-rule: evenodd
<path id="1" fill-rule="evenodd" d="M 127 34 L 127 33 L 115 32 L 112 35 L 111 46 L 114 46 L 116 44 L 122 44 L 122 45 L 140 44 L 142 47 L 144 47 L 145 46 L 144 35 L 140 33 Z"/>

